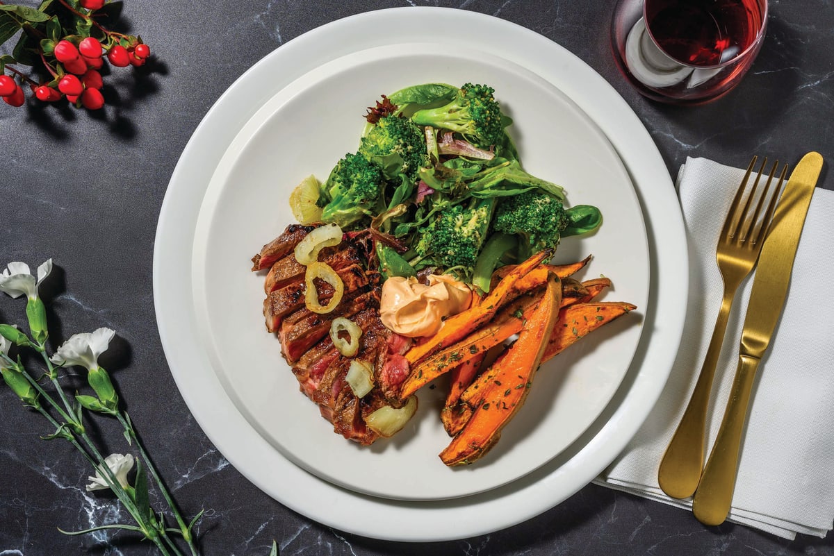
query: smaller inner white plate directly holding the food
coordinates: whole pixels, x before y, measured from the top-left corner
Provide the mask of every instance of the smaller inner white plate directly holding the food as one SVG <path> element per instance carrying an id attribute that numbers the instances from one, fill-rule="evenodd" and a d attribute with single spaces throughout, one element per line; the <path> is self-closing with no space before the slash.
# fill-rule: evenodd
<path id="1" fill-rule="evenodd" d="M 605 409 L 641 337 L 636 311 L 543 365 L 501 441 L 466 469 L 437 455 L 450 443 L 440 423 L 444 380 L 420 392 L 416 417 L 393 440 L 363 449 L 333 433 L 264 331 L 264 274 L 250 271 L 249 259 L 294 222 L 293 187 L 311 171 L 324 179 L 359 146 L 362 115 L 379 92 L 424 82 L 495 87 L 525 168 L 563 184 L 570 204 L 604 215 L 592 236 L 562 241 L 559 260 L 592 254 L 583 274 L 610 276 L 615 298 L 641 310 L 650 285 L 641 207 L 620 157 L 585 112 L 523 67 L 463 47 L 397 44 L 338 57 L 269 99 L 230 143 L 203 197 L 192 268 L 203 347 L 237 410 L 285 457 L 345 488 L 415 500 L 494 489 L 559 454 Z"/>

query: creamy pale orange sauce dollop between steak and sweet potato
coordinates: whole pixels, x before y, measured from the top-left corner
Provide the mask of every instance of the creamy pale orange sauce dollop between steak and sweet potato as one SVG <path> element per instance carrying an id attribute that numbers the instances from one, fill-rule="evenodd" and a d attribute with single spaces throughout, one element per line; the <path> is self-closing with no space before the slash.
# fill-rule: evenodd
<path id="1" fill-rule="evenodd" d="M 450 276 L 430 275 L 429 285 L 416 278 L 392 276 L 382 285 L 379 316 L 389 330 L 414 338 L 437 333 L 443 319 L 469 308 L 472 290 Z"/>

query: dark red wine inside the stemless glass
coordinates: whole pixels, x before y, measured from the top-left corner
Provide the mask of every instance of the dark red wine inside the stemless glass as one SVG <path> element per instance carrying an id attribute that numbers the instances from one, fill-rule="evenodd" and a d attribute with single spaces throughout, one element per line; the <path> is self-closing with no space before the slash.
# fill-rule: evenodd
<path id="1" fill-rule="evenodd" d="M 678 62 L 714 67 L 756 41 L 759 0 L 646 0 L 646 27 L 657 46 Z"/>

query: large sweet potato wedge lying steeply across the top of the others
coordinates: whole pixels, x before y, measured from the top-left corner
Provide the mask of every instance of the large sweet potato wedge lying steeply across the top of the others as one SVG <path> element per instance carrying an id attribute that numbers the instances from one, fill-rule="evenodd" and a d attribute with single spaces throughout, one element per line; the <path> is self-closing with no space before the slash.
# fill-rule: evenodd
<path id="1" fill-rule="evenodd" d="M 440 453 L 446 465 L 470 464 L 479 459 L 524 404 L 559 314 L 561 284 L 558 276 L 550 276 L 545 295 L 518 340 L 466 390 L 477 386 L 477 397 L 483 402 L 473 406 L 463 429 Z"/>

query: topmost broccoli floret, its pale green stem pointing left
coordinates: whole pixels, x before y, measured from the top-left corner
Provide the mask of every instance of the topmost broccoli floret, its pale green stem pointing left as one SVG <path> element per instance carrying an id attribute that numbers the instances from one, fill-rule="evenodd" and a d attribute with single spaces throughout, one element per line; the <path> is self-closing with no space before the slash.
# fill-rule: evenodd
<path id="1" fill-rule="evenodd" d="M 454 100 L 439 108 L 418 110 L 411 120 L 420 126 L 440 127 L 462 135 L 475 146 L 503 144 L 504 123 L 495 100 L 495 89 L 466 83 Z"/>

